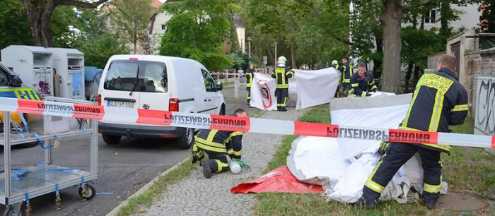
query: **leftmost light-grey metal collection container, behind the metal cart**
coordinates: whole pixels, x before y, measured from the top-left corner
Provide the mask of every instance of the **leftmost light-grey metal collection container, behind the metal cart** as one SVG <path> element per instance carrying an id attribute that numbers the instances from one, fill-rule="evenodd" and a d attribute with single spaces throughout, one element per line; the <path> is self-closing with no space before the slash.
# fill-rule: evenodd
<path id="1" fill-rule="evenodd" d="M 52 52 L 45 47 L 11 45 L 1 50 L 1 62 L 33 86 L 42 100 L 53 96 Z"/>

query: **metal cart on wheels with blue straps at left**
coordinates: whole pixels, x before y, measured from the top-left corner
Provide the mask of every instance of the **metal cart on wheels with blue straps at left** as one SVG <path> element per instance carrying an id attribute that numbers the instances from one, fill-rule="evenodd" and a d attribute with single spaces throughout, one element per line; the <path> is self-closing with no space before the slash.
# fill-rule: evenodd
<path id="1" fill-rule="evenodd" d="M 71 100 L 60 97 L 47 97 L 47 100 L 56 102 L 69 102 L 78 104 L 93 104 L 83 100 Z M 88 130 L 69 131 L 58 134 L 39 136 L 39 138 L 15 138 L 10 133 L 10 112 L 4 112 L 4 133 L 0 133 L 0 145 L 4 145 L 4 172 L 0 173 L 0 204 L 6 205 L 4 215 L 23 215 L 21 205 L 26 203 L 26 215 L 31 214 L 29 199 L 55 192 L 55 203 L 60 208 L 59 190 L 70 186 L 81 186 L 79 196 L 83 200 L 95 196 L 95 188 L 87 184 L 98 176 L 98 120 L 91 120 L 91 128 Z M 51 145 L 58 138 L 66 138 L 78 135 L 91 136 L 90 171 L 82 171 L 68 167 L 60 167 L 52 164 Z M 23 143 L 31 143 L 43 140 L 45 162 L 40 162 L 31 167 L 11 167 L 11 146 Z M 6 178 L 6 176 L 11 176 Z M 3 189 L 2 189 L 3 187 Z"/>

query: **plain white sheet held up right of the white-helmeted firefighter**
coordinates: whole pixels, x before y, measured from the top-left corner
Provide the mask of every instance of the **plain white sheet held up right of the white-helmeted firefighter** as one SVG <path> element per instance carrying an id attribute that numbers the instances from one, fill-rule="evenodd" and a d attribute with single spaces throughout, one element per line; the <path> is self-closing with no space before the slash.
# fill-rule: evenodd
<path id="1" fill-rule="evenodd" d="M 326 104 L 334 97 L 341 74 L 335 68 L 317 71 L 294 69 L 293 71 L 297 80 L 296 109 Z"/>

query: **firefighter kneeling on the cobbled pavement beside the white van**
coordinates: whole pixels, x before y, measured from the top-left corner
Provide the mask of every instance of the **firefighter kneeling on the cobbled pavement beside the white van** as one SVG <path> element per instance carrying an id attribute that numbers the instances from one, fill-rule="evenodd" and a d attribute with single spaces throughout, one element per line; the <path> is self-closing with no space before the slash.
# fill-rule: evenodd
<path id="1" fill-rule="evenodd" d="M 244 109 L 235 109 L 233 116 L 248 117 Z M 243 132 L 202 129 L 194 136 L 192 164 L 200 161 L 203 175 L 226 172 L 231 158 L 240 159 L 243 150 Z"/>

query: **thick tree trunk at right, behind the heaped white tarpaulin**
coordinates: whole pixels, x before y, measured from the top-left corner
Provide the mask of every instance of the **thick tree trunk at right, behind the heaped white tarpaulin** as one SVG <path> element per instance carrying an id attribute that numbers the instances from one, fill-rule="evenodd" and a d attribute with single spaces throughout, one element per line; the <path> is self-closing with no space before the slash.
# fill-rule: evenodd
<path id="1" fill-rule="evenodd" d="M 380 16 L 383 26 L 383 85 L 384 92 L 402 94 L 400 88 L 400 30 L 404 11 L 398 0 L 386 0 L 385 13 Z"/>

